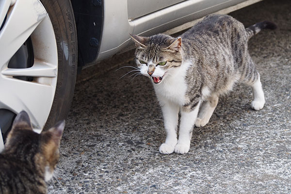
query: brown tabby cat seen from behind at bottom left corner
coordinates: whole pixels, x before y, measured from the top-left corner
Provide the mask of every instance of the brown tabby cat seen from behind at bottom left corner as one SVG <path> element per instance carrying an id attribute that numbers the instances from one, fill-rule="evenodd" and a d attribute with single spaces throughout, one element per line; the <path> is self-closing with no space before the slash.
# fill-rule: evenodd
<path id="1" fill-rule="evenodd" d="M 40 134 L 32 130 L 28 114 L 17 114 L 0 153 L 0 194 L 46 194 L 59 161 L 65 121 Z"/>

